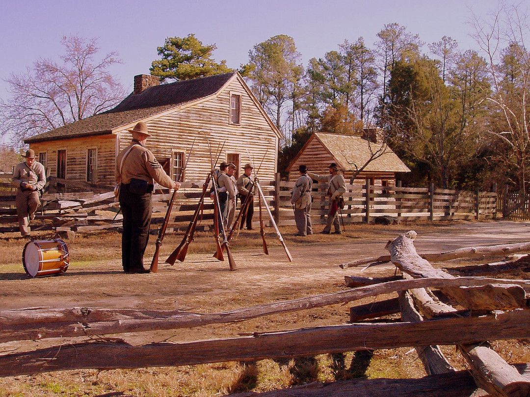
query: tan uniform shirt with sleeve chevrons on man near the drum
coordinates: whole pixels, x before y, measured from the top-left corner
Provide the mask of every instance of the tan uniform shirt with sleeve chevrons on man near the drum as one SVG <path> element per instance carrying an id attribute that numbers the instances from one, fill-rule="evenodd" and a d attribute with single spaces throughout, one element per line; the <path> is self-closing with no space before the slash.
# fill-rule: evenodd
<path id="1" fill-rule="evenodd" d="M 136 146 L 127 154 L 120 172 L 121 160 L 127 150 L 133 145 Z M 123 149 L 120 154 L 118 154 L 114 176 L 116 183 L 118 184 L 120 182 L 128 184 L 131 182 L 131 179 L 135 178 L 146 180 L 147 183 L 151 185 L 154 185 L 153 180 L 155 180 L 155 182 L 164 187 L 169 189 L 173 188 L 173 181 L 167 176 L 160 163 L 156 160 L 154 154 L 146 149 L 145 146 L 142 146 L 135 141 L 131 142 L 127 148 Z"/>

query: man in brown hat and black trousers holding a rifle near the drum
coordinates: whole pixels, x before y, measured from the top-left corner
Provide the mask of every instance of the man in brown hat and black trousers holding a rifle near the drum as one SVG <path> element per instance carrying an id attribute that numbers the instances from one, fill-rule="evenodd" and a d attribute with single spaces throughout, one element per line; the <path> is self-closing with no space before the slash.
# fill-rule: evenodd
<path id="1" fill-rule="evenodd" d="M 144 253 L 151 227 L 154 181 L 175 190 L 180 183 L 171 180 L 153 153 L 145 148 L 147 137 L 151 136 L 147 124 L 139 122 L 127 131 L 133 134 L 133 141 L 118 154 L 115 172 L 123 214 L 121 263 L 126 273 L 148 273 L 144 268 Z"/>

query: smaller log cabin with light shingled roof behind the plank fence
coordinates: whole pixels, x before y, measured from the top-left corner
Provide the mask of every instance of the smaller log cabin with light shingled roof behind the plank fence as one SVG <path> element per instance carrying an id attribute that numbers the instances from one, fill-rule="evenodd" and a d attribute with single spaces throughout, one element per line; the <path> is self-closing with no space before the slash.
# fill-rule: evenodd
<path id="1" fill-rule="evenodd" d="M 410 172 L 410 169 L 381 139 L 377 139 L 379 135 L 379 128 L 367 128 L 364 136 L 315 132 L 289 163 L 289 180 L 300 176 L 299 165 L 305 164 L 316 174 L 328 175 L 329 165 L 334 162 L 343 171 L 348 183 L 354 171 L 380 150 L 382 155 L 369 161 L 354 183 L 364 183 L 369 178 L 372 185 L 395 186 L 396 174 Z"/>

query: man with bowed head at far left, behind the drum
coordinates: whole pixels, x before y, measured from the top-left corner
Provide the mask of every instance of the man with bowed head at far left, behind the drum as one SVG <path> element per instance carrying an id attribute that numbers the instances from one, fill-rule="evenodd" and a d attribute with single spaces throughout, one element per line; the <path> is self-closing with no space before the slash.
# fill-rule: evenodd
<path id="1" fill-rule="evenodd" d="M 24 155 L 25 161 L 18 163 L 13 169 L 11 182 L 18 189 L 15 196 L 16 215 L 19 220 L 20 234 L 31 235 L 30 219 L 40 204 L 39 191 L 46 185 L 44 166 L 36 161 L 35 152 L 30 149 Z"/>

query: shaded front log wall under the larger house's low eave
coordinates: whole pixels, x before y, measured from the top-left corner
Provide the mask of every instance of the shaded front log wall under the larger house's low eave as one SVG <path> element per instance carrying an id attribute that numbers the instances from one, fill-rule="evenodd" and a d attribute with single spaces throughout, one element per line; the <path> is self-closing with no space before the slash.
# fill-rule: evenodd
<path id="1" fill-rule="evenodd" d="M 116 136 L 85 136 L 56 141 L 34 142 L 30 145 L 37 156 L 46 153 L 46 170 L 57 176 L 57 152 L 66 150 L 66 179 L 86 182 L 87 153 L 96 150 L 96 184 L 114 185 L 114 159 L 116 158 Z"/>

